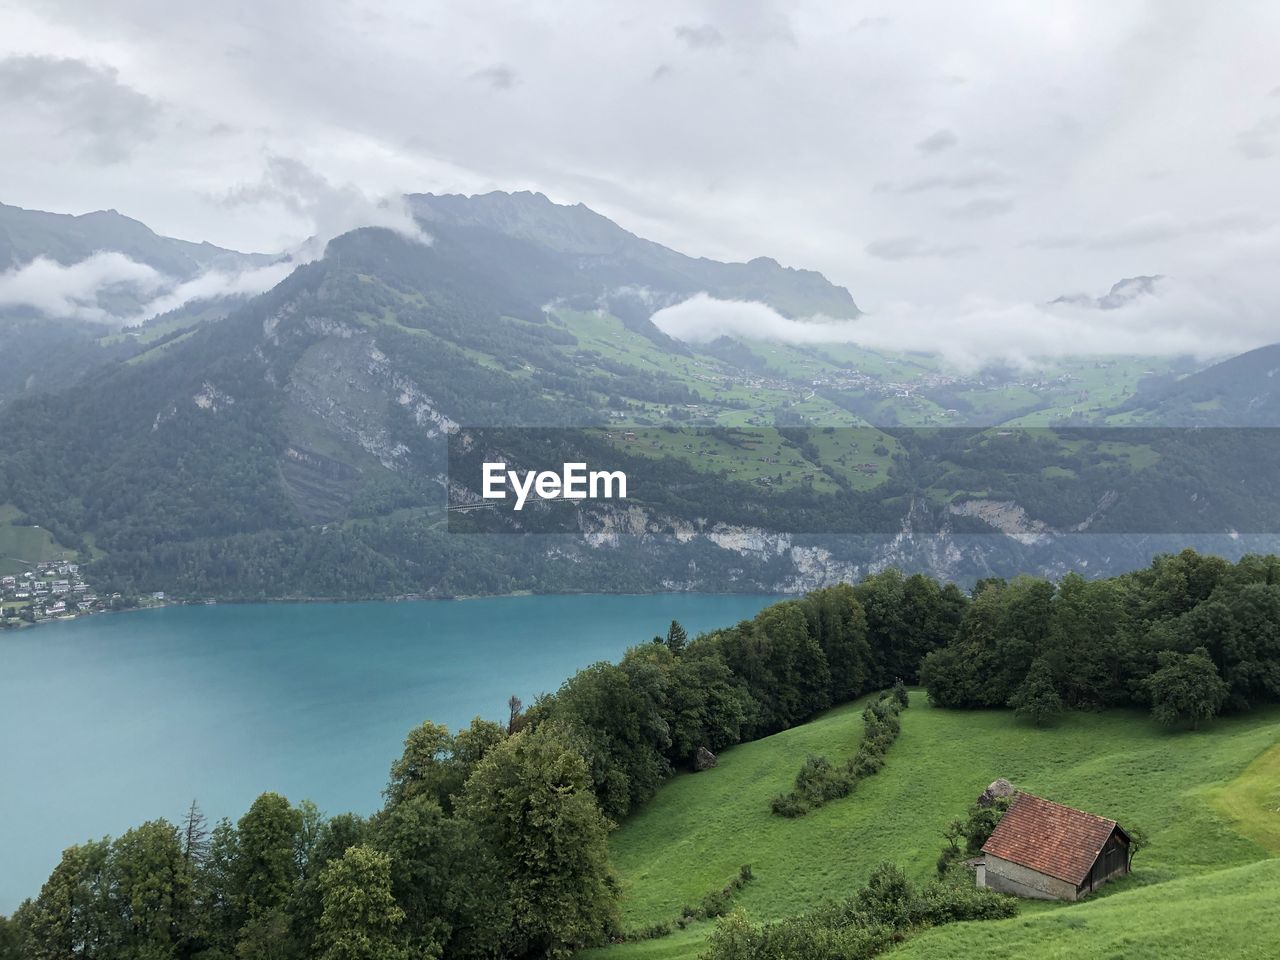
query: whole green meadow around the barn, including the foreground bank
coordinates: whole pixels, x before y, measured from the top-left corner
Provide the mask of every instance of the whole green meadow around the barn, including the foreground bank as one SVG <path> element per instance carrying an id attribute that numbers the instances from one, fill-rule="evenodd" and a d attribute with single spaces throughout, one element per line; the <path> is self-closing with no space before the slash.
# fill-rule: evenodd
<path id="1" fill-rule="evenodd" d="M 741 864 L 751 865 L 755 879 L 735 902 L 755 920 L 849 896 L 883 860 L 925 879 L 946 842 L 947 822 L 997 777 L 1140 827 L 1151 846 L 1137 856 L 1130 877 L 1093 900 L 1027 904 L 1014 920 L 940 928 L 910 942 L 904 956 L 1175 956 L 1126 952 L 1117 946 L 1126 942 L 1120 933 L 1137 936 L 1133 931 L 1148 924 L 1151 943 L 1196 943 L 1203 938 L 1174 933 L 1192 923 L 1192 906 L 1212 927 L 1240 910 L 1280 902 L 1280 861 L 1260 863 L 1280 854 L 1280 709 L 1224 718 L 1199 731 L 1170 732 L 1146 714 L 1120 710 L 1071 713 L 1055 727 L 1036 728 L 1011 712 L 934 709 L 913 691 L 902 735 L 878 776 L 806 817 L 774 817 L 771 797 L 791 786 L 808 755 L 837 760 L 854 751 L 860 708 L 845 705 L 727 750 L 717 768 L 675 777 L 627 818 L 612 840 L 623 929 L 675 922 L 686 904 L 724 886 Z M 1198 890 L 1204 896 L 1192 893 Z M 1162 927 L 1161 915 L 1178 923 Z M 696 923 L 660 940 L 591 952 L 595 960 L 694 957 L 712 927 Z M 1157 937 L 1164 929 L 1167 936 Z M 1064 932 L 1070 933 L 1065 940 Z M 1061 947 L 1068 952 L 1053 952 L 1076 940 Z M 1001 952 L 1005 945 L 1009 952 Z"/>

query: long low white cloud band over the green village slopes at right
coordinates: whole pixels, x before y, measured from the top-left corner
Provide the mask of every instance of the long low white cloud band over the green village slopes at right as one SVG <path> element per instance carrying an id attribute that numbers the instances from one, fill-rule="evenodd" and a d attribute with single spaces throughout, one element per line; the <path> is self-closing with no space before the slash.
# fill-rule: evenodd
<path id="1" fill-rule="evenodd" d="M 1018 366 L 1062 356 L 1196 356 L 1240 353 L 1280 339 L 1275 294 L 1265 282 L 1233 285 L 1164 278 L 1152 293 L 1114 310 L 1082 303 L 1011 303 L 974 298 L 954 307 L 891 303 L 856 320 L 791 319 L 765 303 L 699 293 L 653 315 L 669 337 L 718 337 L 940 355 L 961 370 L 1002 361 Z M 1206 337 L 1206 329 L 1215 330 Z"/>

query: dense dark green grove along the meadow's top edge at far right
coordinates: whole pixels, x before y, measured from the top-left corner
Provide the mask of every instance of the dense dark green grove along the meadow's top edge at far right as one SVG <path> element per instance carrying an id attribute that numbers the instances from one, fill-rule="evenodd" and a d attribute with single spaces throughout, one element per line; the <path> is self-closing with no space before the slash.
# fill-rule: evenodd
<path id="1" fill-rule="evenodd" d="M 1280 558 L 1184 550 L 1107 580 L 979 581 L 960 630 L 924 657 L 942 707 L 1143 707 L 1169 724 L 1280 700 Z"/>

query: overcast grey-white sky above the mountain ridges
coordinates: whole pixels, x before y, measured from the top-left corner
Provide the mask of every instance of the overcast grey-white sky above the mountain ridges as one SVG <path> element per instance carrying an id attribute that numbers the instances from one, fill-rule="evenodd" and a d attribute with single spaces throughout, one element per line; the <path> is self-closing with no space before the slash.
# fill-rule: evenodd
<path id="1" fill-rule="evenodd" d="M 1268 0 L 0 0 L 0 200 L 278 250 L 397 191 L 531 188 L 820 269 L 922 340 L 1166 274 L 1137 335 L 1252 344 L 1277 52 Z"/>

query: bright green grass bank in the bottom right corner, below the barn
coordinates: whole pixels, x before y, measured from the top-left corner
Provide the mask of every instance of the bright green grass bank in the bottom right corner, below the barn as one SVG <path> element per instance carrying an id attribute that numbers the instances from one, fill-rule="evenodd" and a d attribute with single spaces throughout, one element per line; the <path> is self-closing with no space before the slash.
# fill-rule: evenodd
<path id="1" fill-rule="evenodd" d="M 892 960 L 1271 960 L 1280 860 L 1130 888 L 1030 916 L 925 931 Z"/>

